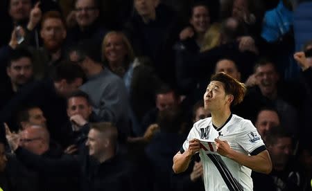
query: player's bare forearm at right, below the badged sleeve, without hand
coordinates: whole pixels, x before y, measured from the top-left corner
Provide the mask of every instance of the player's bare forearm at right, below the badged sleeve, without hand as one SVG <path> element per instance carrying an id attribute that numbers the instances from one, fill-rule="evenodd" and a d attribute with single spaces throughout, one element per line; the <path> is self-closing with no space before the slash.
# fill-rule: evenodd
<path id="1" fill-rule="evenodd" d="M 232 150 L 227 157 L 256 172 L 269 174 L 272 170 L 272 162 L 267 150 L 255 156 L 248 156 Z"/>

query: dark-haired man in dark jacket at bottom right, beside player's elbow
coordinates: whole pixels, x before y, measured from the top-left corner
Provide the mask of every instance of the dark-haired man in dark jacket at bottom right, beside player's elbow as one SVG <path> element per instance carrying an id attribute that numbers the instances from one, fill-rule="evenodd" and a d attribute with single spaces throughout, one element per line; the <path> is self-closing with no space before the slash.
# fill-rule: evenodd
<path id="1" fill-rule="evenodd" d="M 303 177 L 299 164 L 292 156 L 293 141 L 282 127 L 271 128 L 266 145 L 272 160 L 268 175 L 252 172 L 254 190 L 302 190 Z"/>

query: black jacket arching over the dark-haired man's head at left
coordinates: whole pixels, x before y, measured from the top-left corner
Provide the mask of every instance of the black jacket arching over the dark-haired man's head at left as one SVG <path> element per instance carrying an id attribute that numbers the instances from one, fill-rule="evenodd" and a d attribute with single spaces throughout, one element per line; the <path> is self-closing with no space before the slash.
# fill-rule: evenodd
<path id="1" fill-rule="evenodd" d="M 19 91 L 0 111 L 0 122 L 8 122 L 9 127 L 14 127 L 15 116 L 22 107 L 35 105 L 42 109 L 47 120 L 51 138 L 58 141 L 60 127 L 68 120 L 67 102 L 58 96 L 52 80 L 33 82 Z"/>

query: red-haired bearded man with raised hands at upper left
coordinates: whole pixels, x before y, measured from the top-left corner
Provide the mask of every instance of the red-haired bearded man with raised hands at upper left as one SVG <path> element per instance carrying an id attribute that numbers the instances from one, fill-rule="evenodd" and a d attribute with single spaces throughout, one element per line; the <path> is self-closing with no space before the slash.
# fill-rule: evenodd
<path id="1" fill-rule="evenodd" d="M 37 7 L 36 7 L 37 8 Z M 8 46 L 1 49 L 0 60 L 5 60 L 3 57 L 19 46 L 25 46 L 33 53 L 33 73 L 35 79 L 50 77 L 55 70 L 55 66 L 60 63 L 63 58 L 63 44 L 67 36 L 66 25 L 64 18 L 57 11 L 46 12 L 41 21 L 40 37 L 42 37 L 44 46 L 34 48 L 30 46 L 27 40 L 31 35 L 26 33 L 24 42 L 20 45 L 16 37 L 16 31 L 13 31 Z"/>

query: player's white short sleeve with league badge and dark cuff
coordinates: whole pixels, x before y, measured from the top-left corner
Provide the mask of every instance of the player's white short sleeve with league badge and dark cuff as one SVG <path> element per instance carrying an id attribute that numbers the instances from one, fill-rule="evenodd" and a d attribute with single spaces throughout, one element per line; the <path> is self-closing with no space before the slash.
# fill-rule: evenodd
<path id="1" fill-rule="evenodd" d="M 250 120 L 243 123 L 242 131 L 236 136 L 236 141 L 251 155 L 257 155 L 266 149 L 261 136 Z"/>

